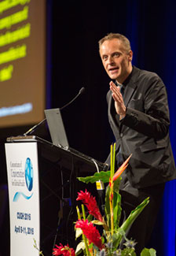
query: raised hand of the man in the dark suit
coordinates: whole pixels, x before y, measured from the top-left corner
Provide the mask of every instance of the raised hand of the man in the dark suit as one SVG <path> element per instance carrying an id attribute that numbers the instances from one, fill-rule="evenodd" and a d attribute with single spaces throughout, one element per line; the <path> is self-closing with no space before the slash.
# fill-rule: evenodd
<path id="1" fill-rule="evenodd" d="M 112 91 L 112 98 L 115 101 L 116 113 L 119 114 L 119 119 L 126 116 L 126 106 L 123 102 L 123 95 L 120 93 L 120 88 L 116 87 L 116 84 L 112 81 L 109 83 L 110 90 Z"/>

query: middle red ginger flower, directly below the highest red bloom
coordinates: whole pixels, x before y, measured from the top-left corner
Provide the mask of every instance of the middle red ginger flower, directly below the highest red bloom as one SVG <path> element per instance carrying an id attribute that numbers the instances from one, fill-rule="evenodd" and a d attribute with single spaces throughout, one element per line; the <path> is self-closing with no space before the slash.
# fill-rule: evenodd
<path id="1" fill-rule="evenodd" d="M 97 228 L 94 227 L 94 224 L 92 224 L 92 222 L 89 223 L 88 220 L 76 221 L 75 228 L 81 228 L 83 234 L 86 236 L 90 243 L 94 243 L 94 245 L 100 250 L 103 248 L 101 242 L 101 235 L 98 232 Z"/>

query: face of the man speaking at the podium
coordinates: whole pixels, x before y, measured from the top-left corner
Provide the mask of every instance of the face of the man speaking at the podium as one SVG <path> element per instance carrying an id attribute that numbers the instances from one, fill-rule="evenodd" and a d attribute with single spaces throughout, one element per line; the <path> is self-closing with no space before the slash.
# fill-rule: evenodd
<path id="1" fill-rule="evenodd" d="M 101 44 L 100 54 L 108 76 L 123 83 L 132 71 L 132 50 L 127 52 L 119 39 L 110 39 Z"/>

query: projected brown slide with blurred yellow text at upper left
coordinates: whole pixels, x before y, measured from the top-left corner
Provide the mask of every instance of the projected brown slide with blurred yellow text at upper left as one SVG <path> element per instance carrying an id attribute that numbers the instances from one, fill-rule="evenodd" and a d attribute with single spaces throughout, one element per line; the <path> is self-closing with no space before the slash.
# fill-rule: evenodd
<path id="1" fill-rule="evenodd" d="M 46 1 L 0 1 L 0 128 L 44 117 Z"/>

